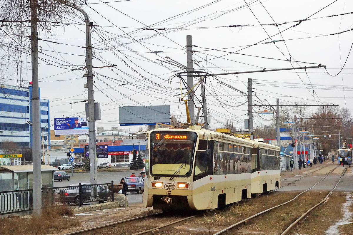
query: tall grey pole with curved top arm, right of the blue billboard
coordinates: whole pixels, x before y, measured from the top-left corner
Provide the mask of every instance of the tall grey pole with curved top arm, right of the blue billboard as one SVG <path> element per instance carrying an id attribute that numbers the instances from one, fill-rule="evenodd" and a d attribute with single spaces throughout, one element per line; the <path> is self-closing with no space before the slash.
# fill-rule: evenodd
<path id="1" fill-rule="evenodd" d="M 88 136 L 89 136 L 89 162 L 90 162 L 90 183 L 97 183 L 97 161 L 96 161 L 96 121 L 94 113 L 94 99 L 93 99 L 93 71 L 92 71 L 92 43 L 91 43 L 91 29 L 93 24 L 89 21 L 88 14 L 72 2 L 63 2 L 64 4 L 81 12 L 85 17 L 86 23 L 86 67 L 87 67 L 87 91 L 88 91 L 88 113 L 86 118 L 88 121 Z"/>

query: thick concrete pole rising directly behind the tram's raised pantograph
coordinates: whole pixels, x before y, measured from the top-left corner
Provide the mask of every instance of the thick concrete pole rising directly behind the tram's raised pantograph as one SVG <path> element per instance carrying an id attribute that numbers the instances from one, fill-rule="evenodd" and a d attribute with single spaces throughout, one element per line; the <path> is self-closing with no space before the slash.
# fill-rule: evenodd
<path id="1" fill-rule="evenodd" d="M 187 106 L 189 107 L 189 115 L 192 124 L 195 124 L 195 104 L 194 104 L 194 91 L 191 89 L 194 86 L 194 74 L 192 64 L 192 37 L 191 35 L 186 36 L 186 71 L 187 73 L 187 86 L 190 89 L 187 94 Z M 207 116 L 206 116 L 207 117 Z"/>

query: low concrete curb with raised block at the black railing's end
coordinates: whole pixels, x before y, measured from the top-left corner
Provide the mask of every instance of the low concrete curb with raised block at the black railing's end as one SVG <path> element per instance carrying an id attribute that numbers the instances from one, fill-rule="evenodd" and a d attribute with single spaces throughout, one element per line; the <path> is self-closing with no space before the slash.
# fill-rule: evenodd
<path id="1" fill-rule="evenodd" d="M 73 208 L 74 214 L 80 214 L 83 212 L 91 212 L 103 209 L 113 209 L 118 207 L 128 207 L 127 197 L 124 194 L 114 194 L 114 202 L 106 202 L 95 205 L 83 205 L 79 208 Z"/>

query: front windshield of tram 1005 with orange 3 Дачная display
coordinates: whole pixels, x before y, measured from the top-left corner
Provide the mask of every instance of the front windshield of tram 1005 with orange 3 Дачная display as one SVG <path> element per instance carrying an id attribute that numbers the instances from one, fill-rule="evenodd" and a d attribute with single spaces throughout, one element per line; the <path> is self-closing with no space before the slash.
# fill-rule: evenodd
<path id="1" fill-rule="evenodd" d="M 197 134 L 187 131 L 154 131 L 150 135 L 152 176 L 189 177 Z"/>

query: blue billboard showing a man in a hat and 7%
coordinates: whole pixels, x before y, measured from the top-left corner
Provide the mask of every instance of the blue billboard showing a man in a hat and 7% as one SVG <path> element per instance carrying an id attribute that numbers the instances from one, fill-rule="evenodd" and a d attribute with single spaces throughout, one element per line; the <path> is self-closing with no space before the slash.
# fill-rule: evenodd
<path id="1" fill-rule="evenodd" d="M 88 134 L 86 118 L 54 118 L 54 135 L 85 135 Z"/>

